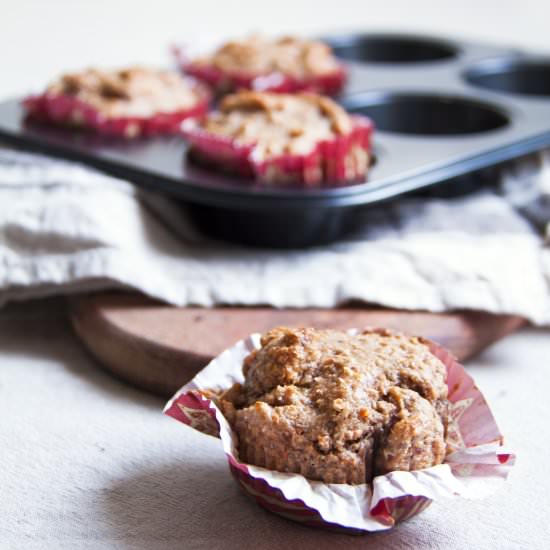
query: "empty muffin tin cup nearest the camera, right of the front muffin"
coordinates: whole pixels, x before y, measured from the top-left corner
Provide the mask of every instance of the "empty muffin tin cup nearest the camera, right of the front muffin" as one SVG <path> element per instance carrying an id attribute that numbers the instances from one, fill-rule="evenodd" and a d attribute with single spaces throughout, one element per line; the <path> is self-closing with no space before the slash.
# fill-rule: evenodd
<path id="1" fill-rule="evenodd" d="M 459 96 L 368 92 L 345 98 L 345 109 L 369 117 L 378 130 L 426 136 L 453 136 L 503 128 L 503 109 Z"/>

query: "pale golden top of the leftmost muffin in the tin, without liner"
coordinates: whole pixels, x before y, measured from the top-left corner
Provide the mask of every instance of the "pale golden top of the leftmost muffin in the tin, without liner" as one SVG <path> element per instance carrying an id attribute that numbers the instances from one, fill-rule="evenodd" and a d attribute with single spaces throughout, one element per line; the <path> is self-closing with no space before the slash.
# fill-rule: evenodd
<path id="1" fill-rule="evenodd" d="M 108 118 L 183 111 L 199 99 L 197 91 L 178 74 L 143 67 L 68 73 L 47 92 L 74 96 Z"/>

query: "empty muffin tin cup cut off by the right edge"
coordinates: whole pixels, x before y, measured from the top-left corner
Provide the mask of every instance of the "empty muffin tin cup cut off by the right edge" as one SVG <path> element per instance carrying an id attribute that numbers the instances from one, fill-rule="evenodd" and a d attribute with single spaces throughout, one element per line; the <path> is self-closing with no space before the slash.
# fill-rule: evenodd
<path id="1" fill-rule="evenodd" d="M 477 88 L 528 96 L 550 96 L 550 59 L 499 58 L 482 61 L 464 74 Z"/>

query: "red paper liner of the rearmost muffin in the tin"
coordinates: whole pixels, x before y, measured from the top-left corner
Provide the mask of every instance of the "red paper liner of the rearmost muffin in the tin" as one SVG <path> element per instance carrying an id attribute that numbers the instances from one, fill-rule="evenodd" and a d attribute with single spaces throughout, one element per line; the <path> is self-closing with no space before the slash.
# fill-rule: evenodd
<path id="1" fill-rule="evenodd" d="M 208 84 L 218 94 L 246 89 L 285 94 L 310 91 L 335 96 L 342 91 L 347 79 L 347 71 L 343 65 L 323 75 L 296 78 L 279 72 L 257 75 L 246 71 L 223 71 L 214 65 L 193 63 L 183 48 L 174 47 L 172 52 L 184 73 Z"/>

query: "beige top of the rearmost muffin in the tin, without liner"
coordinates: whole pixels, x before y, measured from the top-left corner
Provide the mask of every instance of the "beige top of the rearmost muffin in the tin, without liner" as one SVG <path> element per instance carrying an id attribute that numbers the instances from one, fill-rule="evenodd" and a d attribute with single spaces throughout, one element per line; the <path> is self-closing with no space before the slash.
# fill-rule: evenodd
<path id="1" fill-rule="evenodd" d="M 228 73 L 270 74 L 280 72 L 294 78 L 322 76 L 339 69 L 327 44 L 295 37 L 269 39 L 250 36 L 225 43 L 212 55 L 193 61 L 212 65 Z"/>

